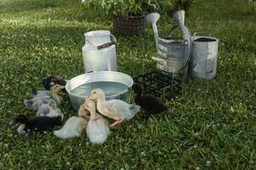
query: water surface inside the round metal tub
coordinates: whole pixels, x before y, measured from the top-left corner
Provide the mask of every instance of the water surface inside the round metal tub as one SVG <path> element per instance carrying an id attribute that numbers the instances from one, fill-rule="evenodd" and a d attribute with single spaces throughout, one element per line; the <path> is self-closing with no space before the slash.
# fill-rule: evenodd
<path id="1" fill-rule="evenodd" d="M 95 88 L 101 88 L 107 97 L 107 96 L 112 96 L 114 94 L 119 94 L 125 91 L 128 87 L 125 86 L 125 84 L 122 84 L 119 82 L 89 82 L 89 83 L 80 85 L 77 88 L 74 88 L 71 91 L 71 93 L 86 97 L 86 96 L 89 96 L 91 90 Z"/>

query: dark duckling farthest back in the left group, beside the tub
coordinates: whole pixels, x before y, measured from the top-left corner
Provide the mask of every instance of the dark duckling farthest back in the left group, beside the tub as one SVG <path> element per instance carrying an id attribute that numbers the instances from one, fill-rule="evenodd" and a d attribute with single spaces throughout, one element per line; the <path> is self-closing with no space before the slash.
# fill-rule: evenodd
<path id="1" fill-rule="evenodd" d="M 42 79 L 42 83 L 45 89 L 49 90 L 50 87 L 54 84 L 59 84 L 61 86 L 66 85 L 66 81 L 58 76 L 49 76 Z M 62 89 L 63 92 L 66 92 L 65 88 Z"/>

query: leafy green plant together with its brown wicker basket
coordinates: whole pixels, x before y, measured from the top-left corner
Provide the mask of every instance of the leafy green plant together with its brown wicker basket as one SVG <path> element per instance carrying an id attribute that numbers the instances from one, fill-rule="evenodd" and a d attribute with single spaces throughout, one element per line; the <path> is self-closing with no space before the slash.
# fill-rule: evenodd
<path id="1" fill-rule="evenodd" d="M 84 4 L 113 18 L 113 31 L 120 35 L 142 35 L 144 14 L 160 8 L 157 0 L 84 0 Z"/>

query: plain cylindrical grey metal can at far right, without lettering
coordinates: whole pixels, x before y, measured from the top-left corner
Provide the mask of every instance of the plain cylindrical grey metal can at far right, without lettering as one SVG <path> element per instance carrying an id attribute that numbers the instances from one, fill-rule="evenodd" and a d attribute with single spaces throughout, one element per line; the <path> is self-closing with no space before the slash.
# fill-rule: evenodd
<path id="1" fill-rule="evenodd" d="M 192 57 L 189 63 L 191 78 L 212 79 L 216 76 L 218 59 L 218 38 L 192 37 Z"/>

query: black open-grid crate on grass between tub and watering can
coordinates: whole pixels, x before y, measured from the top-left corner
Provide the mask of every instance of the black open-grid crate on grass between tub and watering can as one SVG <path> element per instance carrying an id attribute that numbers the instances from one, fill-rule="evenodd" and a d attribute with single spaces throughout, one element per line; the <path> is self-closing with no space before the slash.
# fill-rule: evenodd
<path id="1" fill-rule="evenodd" d="M 134 82 L 143 85 L 143 94 L 154 95 L 162 101 L 172 100 L 182 92 L 181 81 L 165 71 L 153 71 L 134 77 Z"/>

